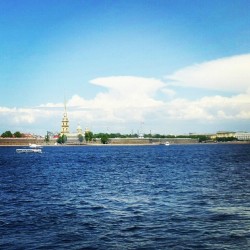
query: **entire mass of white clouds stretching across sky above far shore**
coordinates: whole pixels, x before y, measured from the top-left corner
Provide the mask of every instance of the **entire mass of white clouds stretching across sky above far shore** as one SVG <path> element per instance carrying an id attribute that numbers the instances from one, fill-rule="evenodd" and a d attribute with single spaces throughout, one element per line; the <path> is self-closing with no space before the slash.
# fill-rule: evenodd
<path id="1" fill-rule="evenodd" d="M 250 124 L 249 65 L 250 54 L 246 54 L 186 67 L 165 80 L 135 76 L 95 78 L 90 84 L 104 90 L 92 99 L 81 94 L 72 96 L 67 102 L 69 118 L 72 125 L 76 126 L 78 122 L 83 126 L 90 125 L 95 132 L 102 132 L 104 127 L 128 132 L 142 122 L 161 133 L 188 132 L 186 122 L 192 122 L 193 131 L 202 130 L 201 122 L 203 130 L 209 131 L 209 125 L 215 124 L 214 127 L 219 128 L 220 123 L 227 121 L 225 130 L 235 130 L 235 124 L 243 121 Z M 196 100 L 189 96 L 180 98 L 174 86 L 204 89 L 203 97 Z M 233 94 L 207 96 L 206 89 L 226 90 Z M 5 125 L 30 124 L 60 131 L 63 106 L 63 103 L 47 103 L 26 109 L 0 107 L 0 119 Z M 175 124 L 181 131 L 176 131 Z M 245 130 L 250 130 L 249 125 Z"/>

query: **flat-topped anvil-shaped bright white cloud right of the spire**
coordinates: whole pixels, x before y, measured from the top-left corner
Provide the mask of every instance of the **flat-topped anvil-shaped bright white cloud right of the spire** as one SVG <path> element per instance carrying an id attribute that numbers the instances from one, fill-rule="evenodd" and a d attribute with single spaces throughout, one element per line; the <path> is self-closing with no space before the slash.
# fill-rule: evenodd
<path id="1" fill-rule="evenodd" d="M 91 100 L 75 95 L 68 101 L 68 105 L 72 108 L 81 107 L 82 111 L 78 109 L 75 113 L 85 113 L 85 115 L 88 113 L 88 119 L 92 121 L 120 123 L 131 120 L 141 121 L 144 114 L 152 112 L 163 104 L 162 101 L 154 98 L 157 91 L 163 87 L 166 88 L 165 83 L 158 79 L 112 76 L 96 78 L 90 82 L 106 87 L 107 91 L 98 93 Z"/>

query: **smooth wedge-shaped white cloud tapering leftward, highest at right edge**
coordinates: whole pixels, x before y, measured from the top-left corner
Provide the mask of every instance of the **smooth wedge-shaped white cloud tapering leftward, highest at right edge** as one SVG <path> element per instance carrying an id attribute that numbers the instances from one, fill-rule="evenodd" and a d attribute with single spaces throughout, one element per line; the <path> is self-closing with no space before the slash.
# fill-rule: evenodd
<path id="1" fill-rule="evenodd" d="M 250 85 L 250 54 L 221 58 L 177 70 L 166 76 L 176 86 L 245 92 Z"/>

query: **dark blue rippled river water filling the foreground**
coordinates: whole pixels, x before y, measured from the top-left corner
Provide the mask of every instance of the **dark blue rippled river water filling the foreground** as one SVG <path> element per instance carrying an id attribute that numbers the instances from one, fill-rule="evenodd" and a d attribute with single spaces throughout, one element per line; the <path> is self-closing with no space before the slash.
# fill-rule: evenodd
<path id="1" fill-rule="evenodd" d="M 250 145 L 0 148 L 1 249 L 250 249 Z"/>

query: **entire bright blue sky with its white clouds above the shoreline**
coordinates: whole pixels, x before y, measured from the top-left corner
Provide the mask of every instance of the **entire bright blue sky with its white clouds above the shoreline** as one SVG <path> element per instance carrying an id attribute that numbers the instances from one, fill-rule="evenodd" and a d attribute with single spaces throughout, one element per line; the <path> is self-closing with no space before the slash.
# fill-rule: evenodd
<path id="1" fill-rule="evenodd" d="M 0 134 L 250 132 L 249 0 L 0 0 Z"/>

